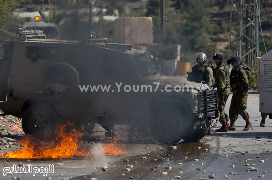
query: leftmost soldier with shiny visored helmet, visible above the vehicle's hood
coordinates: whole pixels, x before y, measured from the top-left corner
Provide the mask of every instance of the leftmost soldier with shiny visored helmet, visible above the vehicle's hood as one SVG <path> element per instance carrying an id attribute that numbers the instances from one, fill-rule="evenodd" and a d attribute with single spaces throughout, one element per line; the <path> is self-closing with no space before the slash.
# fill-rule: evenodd
<path id="1" fill-rule="evenodd" d="M 205 81 L 210 87 L 213 86 L 213 69 L 206 65 L 207 56 L 200 52 L 195 56 L 197 65 L 192 67 L 192 72 L 188 73 L 188 80 L 200 83 Z"/>

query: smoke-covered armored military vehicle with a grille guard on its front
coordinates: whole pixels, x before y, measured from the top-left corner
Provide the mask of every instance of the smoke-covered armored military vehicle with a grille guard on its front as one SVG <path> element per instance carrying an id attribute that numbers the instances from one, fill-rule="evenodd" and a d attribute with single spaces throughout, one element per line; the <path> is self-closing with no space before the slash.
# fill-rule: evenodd
<path id="1" fill-rule="evenodd" d="M 0 42 L 0 109 L 22 118 L 26 134 L 74 121 L 101 124 L 111 135 L 114 125 L 128 123 L 131 131 L 149 129 L 158 142 L 176 143 L 201 139 L 207 119 L 217 117 L 216 90 L 161 76 L 156 58 L 132 45 L 19 40 Z"/>

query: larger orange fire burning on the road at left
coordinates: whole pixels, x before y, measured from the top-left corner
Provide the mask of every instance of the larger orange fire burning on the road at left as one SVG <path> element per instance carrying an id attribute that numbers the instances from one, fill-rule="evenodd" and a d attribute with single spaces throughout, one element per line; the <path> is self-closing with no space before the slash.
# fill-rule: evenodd
<path id="1" fill-rule="evenodd" d="M 71 123 L 59 125 L 50 143 L 27 136 L 20 140 L 22 149 L 1 155 L 1 158 L 41 159 L 41 158 L 70 158 L 73 156 L 90 156 L 91 151 L 80 149 L 79 140 L 82 134 L 73 131 L 66 132 L 72 127 Z"/>

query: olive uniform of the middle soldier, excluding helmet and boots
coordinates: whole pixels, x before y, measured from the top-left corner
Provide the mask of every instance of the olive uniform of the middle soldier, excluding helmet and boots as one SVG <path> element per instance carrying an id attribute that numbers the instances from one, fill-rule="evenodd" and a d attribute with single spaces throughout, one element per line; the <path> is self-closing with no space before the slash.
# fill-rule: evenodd
<path id="1" fill-rule="evenodd" d="M 219 64 L 215 69 L 215 86 L 218 93 L 219 122 L 225 123 L 225 104 L 230 94 L 229 69 L 224 64 Z"/>

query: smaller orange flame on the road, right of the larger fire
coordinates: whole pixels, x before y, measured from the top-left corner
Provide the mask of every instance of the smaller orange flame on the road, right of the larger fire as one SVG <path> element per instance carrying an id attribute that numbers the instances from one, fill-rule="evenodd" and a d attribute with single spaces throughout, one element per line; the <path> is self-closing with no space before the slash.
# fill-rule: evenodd
<path id="1" fill-rule="evenodd" d="M 124 150 L 124 145 L 119 145 L 117 143 L 118 137 L 114 137 L 108 138 L 110 142 L 109 144 L 106 144 L 103 146 L 103 150 L 106 154 L 108 155 L 125 155 L 128 154 L 125 150 Z"/>

